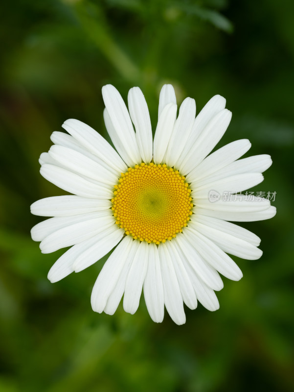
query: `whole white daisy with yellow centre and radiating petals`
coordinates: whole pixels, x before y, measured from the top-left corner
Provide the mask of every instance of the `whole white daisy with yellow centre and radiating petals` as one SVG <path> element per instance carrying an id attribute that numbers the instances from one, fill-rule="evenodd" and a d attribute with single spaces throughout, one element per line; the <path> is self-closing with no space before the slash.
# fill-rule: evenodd
<path id="1" fill-rule="evenodd" d="M 209 156 L 231 119 L 225 98 L 217 95 L 196 116 L 186 98 L 177 118 L 174 89 L 160 92 L 158 124 L 152 140 L 149 111 L 138 87 L 129 91 L 127 109 L 118 91 L 102 89 L 104 120 L 111 145 L 90 126 L 67 120 L 63 132 L 41 154 L 41 174 L 70 196 L 48 197 L 31 206 L 35 215 L 53 217 L 32 228 L 43 253 L 71 246 L 53 265 L 56 282 L 113 253 L 92 291 L 95 312 L 113 314 L 123 298 L 134 314 L 143 289 L 151 318 L 161 322 L 164 306 L 177 324 L 185 322 L 183 303 L 219 308 L 214 291 L 219 275 L 239 280 L 242 272 L 226 254 L 258 259 L 260 239 L 228 221 L 259 221 L 275 215 L 269 200 L 212 203 L 208 194 L 239 193 L 263 180 L 269 155 L 239 159 L 249 148 L 238 140 Z M 134 126 L 135 130 L 134 131 Z"/>

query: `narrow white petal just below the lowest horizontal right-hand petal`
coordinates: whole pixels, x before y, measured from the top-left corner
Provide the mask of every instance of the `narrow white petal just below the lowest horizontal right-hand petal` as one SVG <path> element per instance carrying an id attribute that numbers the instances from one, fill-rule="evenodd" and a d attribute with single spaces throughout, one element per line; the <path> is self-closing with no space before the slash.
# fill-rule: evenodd
<path id="1" fill-rule="evenodd" d="M 204 215 L 194 214 L 192 217 L 193 219 L 191 219 L 189 226 L 191 225 L 191 227 L 195 228 L 195 230 L 197 230 L 197 224 L 202 223 L 205 226 L 219 230 L 223 233 L 230 234 L 239 238 L 240 240 L 247 241 L 252 245 L 258 246 L 260 244 L 260 238 L 257 237 L 256 234 L 245 229 L 244 227 L 238 226 L 237 224 L 223 221 L 221 219 L 204 217 Z"/>

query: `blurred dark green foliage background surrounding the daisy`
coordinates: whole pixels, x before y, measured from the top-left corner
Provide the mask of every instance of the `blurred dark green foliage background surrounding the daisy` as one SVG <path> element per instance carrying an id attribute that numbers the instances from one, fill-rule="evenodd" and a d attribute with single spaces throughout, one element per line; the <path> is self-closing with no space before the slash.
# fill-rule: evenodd
<path id="1" fill-rule="evenodd" d="M 294 390 L 294 2 L 276 0 L 14 0 L 0 11 L 0 392 Z M 101 87 L 139 86 L 156 126 L 172 83 L 197 111 L 215 94 L 233 117 L 219 146 L 249 138 L 273 165 L 255 191 L 277 215 L 241 223 L 261 237 L 258 261 L 236 260 L 220 310 L 186 308 L 179 327 L 92 312 L 104 260 L 51 284 L 62 251 L 30 239 L 29 205 L 64 194 L 39 174 L 49 136 L 68 118 L 107 137 Z M 247 154 L 249 155 L 249 153 Z M 236 259 L 236 258 L 235 258 Z"/>

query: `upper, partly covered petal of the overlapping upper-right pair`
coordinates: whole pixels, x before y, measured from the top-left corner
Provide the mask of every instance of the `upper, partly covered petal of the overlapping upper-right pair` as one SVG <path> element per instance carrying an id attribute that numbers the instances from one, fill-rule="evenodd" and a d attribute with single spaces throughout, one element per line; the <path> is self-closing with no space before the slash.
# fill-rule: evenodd
<path id="1" fill-rule="evenodd" d="M 181 167 L 185 162 L 187 162 L 186 157 L 191 150 L 191 147 L 194 146 L 196 140 L 201 135 L 205 126 L 216 116 L 219 112 L 221 112 L 226 107 L 226 99 L 221 97 L 220 95 L 215 95 L 212 97 L 201 110 L 201 112 L 196 117 L 194 124 L 191 129 L 191 134 L 189 138 L 189 143 L 183 149 L 181 158 L 179 159 L 178 167 Z"/>

